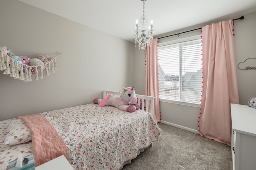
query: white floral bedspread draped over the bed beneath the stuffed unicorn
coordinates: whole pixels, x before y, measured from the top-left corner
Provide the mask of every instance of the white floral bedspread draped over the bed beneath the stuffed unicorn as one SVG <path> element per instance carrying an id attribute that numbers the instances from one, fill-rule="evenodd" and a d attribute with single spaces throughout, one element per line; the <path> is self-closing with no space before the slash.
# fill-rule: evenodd
<path id="1" fill-rule="evenodd" d="M 66 143 L 68 161 L 74 169 L 118 170 L 124 162 L 136 158 L 138 149 L 158 141 L 158 125 L 150 113 L 141 110 L 129 113 L 113 106 L 87 104 L 40 114 Z M 2 132 L 0 142 L 4 140 L 1 137 Z M 24 152 L 32 149 L 30 143 L 20 145 L 30 147 Z M 4 157 L 1 147 L 0 144 L 0 166 Z"/>

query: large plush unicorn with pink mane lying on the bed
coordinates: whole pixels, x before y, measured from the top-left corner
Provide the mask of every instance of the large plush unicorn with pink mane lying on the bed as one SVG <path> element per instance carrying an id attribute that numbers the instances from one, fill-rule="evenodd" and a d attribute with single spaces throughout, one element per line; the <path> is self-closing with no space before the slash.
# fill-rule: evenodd
<path id="1" fill-rule="evenodd" d="M 137 103 L 138 99 L 135 94 L 134 87 L 123 88 L 120 96 L 114 94 L 107 94 L 103 99 L 95 98 L 94 104 L 99 104 L 98 107 L 114 106 L 120 110 L 134 112 L 140 109 Z"/>

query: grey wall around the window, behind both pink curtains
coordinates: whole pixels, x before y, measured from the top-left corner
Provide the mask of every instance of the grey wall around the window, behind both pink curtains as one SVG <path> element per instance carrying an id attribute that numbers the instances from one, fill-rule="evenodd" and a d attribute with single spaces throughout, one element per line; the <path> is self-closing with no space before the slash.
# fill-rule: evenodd
<path id="1" fill-rule="evenodd" d="M 173 35 L 192 29 L 197 29 L 211 23 L 218 23 L 219 21 L 240 18 L 240 16 L 241 15 L 232 16 L 231 18 L 222 18 L 216 21 L 211 21 L 209 23 L 202 23 L 201 25 L 195 25 L 190 28 L 166 33 L 165 35 L 158 37 L 155 36 L 154 38 L 164 37 L 166 35 Z M 256 73 L 256 70 L 240 70 L 238 69 L 237 65 L 238 63 L 243 62 L 248 58 L 256 58 L 256 12 L 244 14 L 242 16 L 244 16 L 244 20 L 234 21 L 234 48 L 236 55 L 236 74 L 238 80 L 239 101 L 240 104 L 248 105 L 248 100 L 252 97 L 256 97 L 256 91 L 254 91 L 254 85 L 256 84 L 256 78 L 254 78 L 254 74 Z M 172 37 L 159 39 L 158 43 L 199 34 L 201 34 L 201 29 L 180 34 L 180 37 L 175 35 Z M 136 72 L 134 72 L 134 86 L 137 90 L 136 93 L 140 94 L 145 94 L 145 63 L 141 63 L 143 60 L 144 50 L 138 51 L 137 47 L 136 49 L 134 49 L 134 70 L 136 70 Z M 180 127 L 182 129 L 186 129 L 196 133 L 198 132 L 198 116 L 200 113 L 200 106 L 184 106 L 180 104 L 167 103 L 160 100 L 160 111 L 162 123 Z"/>

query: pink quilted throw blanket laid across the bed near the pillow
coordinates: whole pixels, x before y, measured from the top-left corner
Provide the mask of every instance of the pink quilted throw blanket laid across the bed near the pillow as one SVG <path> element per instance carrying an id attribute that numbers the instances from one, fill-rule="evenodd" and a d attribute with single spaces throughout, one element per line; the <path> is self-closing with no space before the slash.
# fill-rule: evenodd
<path id="1" fill-rule="evenodd" d="M 56 129 L 39 114 L 18 116 L 23 119 L 32 133 L 32 152 L 36 166 L 57 158 L 62 154 L 68 160 L 68 150 Z"/>

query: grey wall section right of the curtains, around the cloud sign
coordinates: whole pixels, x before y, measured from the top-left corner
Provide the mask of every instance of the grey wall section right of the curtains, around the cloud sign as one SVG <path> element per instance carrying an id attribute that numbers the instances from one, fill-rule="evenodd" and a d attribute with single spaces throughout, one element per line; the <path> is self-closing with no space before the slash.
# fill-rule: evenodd
<path id="1" fill-rule="evenodd" d="M 234 21 L 234 46 L 236 54 L 236 66 L 248 58 L 256 59 L 256 12 L 244 15 L 244 20 L 236 23 Z M 256 62 L 254 63 L 256 67 Z M 254 85 L 256 84 L 256 70 L 240 70 L 236 67 L 238 80 L 239 102 L 248 105 L 248 100 L 256 97 Z"/>

